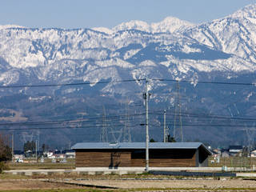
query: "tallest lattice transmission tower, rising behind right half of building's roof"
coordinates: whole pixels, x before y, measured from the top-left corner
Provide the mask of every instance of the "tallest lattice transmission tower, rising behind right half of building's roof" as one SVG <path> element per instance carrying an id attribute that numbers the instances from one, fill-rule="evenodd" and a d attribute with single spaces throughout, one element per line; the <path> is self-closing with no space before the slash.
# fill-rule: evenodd
<path id="1" fill-rule="evenodd" d="M 181 107 L 181 95 L 179 93 L 180 87 L 179 87 L 179 82 L 177 81 L 176 84 L 176 95 L 175 95 L 175 114 L 174 114 L 174 138 L 179 138 L 181 139 L 181 142 L 183 142 L 183 127 L 182 127 L 182 107 Z M 179 118 L 179 128 L 180 128 L 180 133 L 177 134 L 176 130 L 176 118 Z"/>

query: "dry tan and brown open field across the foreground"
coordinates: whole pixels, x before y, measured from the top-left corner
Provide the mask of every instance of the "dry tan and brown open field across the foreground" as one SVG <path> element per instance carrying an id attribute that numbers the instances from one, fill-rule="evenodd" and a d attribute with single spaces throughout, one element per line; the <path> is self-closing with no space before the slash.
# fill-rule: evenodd
<path id="1" fill-rule="evenodd" d="M 0 191 L 256 191 L 244 178 L 185 178 L 133 175 L 0 175 Z"/>

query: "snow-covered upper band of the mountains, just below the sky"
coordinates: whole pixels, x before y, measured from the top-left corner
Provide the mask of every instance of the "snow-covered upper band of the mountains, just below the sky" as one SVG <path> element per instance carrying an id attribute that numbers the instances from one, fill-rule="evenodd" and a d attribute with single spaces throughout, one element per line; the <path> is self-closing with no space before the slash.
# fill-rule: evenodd
<path id="1" fill-rule="evenodd" d="M 226 18 L 198 26 L 178 18 L 166 18 L 150 25 L 146 22 L 131 21 L 111 30 L 2 26 L 0 55 L 14 68 L 45 68 L 39 77 L 41 79 L 47 76 L 45 71 L 52 71 L 51 68 L 57 63 L 66 66 L 66 60 L 73 61 L 73 64 L 68 65 L 70 68 L 78 60 L 84 61 L 83 65 L 90 66 L 90 69 L 100 67 L 95 62 L 85 64 L 88 59 L 97 63 L 107 62 L 108 66 L 112 63 L 116 66 L 112 61 L 119 59 L 122 61 L 120 63 L 126 63 L 122 65 L 125 68 L 134 66 L 135 62 L 150 60 L 156 62 L 157 66 L 166 67 L 179 63 L 183 72 L 191 68 L 200 71 L 254 71 L 254 12 L 255 5 L 250 5 Z M 148 50 L 154 50 L 153 60 L 148 57 Z M 138 58 L 142 52 L 143 57 Z M 79 66 L 80 62 L 77 64 Z M 55 70 L 58 69 L 55 67 Z"/>

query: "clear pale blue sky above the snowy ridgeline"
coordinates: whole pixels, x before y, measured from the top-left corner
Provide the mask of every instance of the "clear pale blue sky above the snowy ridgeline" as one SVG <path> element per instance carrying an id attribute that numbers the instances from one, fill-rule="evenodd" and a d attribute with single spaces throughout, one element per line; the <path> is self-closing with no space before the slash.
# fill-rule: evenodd
<path id="1" fill-rule="evenodd" d="M 256 0 L 0 0 L 0 25 L 112 28 L 121 22 L 160 22 L 167 16 L 201 23 Z"/>

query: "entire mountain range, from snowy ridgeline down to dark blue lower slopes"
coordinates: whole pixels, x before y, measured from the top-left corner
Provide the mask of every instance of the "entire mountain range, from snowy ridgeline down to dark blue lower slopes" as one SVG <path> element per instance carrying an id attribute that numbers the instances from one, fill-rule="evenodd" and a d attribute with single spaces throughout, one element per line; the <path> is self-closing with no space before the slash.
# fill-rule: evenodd
<path id="1" fill-rule="evenodd" d="M 186 141 L 251 145 L 255 70 L 256 4 L 202 24 L 168 17 L 112 29 L 0 26 L 0 119 L 8 133 L 24 129 L 15 130 L 20 143 L 42 137 L 61 147 L 98 142 L 102 127 L 109 141 L 121 141 L 130 117 L 131 140 L 144 141 L 142 79 L 149 78 L 151 138 L 162 141 L 167 110 L 177 140 L 183 131 Z"/>

